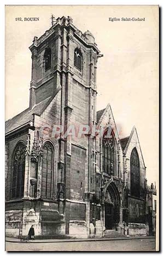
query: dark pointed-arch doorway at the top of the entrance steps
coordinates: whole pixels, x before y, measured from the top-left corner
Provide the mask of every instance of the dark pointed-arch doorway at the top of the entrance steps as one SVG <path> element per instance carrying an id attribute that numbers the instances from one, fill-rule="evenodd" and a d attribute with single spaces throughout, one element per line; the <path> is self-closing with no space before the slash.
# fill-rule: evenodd
<path id="1" fill-rule="evenodd" d="M 113 229 L 120 221 L 120 195 L 114 182 L 110 183 L 104 196 L 105 226 Z"/>

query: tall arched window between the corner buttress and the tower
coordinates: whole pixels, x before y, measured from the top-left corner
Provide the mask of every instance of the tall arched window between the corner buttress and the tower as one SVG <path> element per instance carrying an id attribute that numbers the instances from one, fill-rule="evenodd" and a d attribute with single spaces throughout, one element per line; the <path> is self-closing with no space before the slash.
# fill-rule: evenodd
<path id="1" fill-rule="evenodd" d="M 43 146 L 42 197 L 52 198 L 54 175 L 54 147 L 48 141 Z"/>

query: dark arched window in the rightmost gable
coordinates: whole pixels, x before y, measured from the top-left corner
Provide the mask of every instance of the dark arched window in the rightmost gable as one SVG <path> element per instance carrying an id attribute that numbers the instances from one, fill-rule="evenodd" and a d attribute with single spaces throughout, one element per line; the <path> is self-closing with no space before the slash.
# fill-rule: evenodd
<path id="1" fill-rule="evenodd" d="M 140 168 L 139 157 L 136 147 L 131 153 L 131 195 L 139 197 L 140 195 Z"/>

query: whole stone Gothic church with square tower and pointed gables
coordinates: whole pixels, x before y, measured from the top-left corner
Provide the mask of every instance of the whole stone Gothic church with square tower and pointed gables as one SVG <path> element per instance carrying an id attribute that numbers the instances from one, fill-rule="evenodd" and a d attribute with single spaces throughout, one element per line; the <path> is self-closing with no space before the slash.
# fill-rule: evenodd
<path id="1" fill-rule="evenodd" d="M 38 237 L 146 236 L 137 130 L 120 139 L 110 105 L 96 111 L 102 54 L 92 33 L 63 16 L 30 50 L 30 106 L 5 124 L 6 235 L 34 225 Z"/>

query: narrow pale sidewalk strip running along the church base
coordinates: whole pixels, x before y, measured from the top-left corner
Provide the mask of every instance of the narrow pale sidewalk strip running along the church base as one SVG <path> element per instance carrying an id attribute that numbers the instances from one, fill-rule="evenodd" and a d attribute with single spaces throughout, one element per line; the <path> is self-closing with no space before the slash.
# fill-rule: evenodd
<path id="1" fill-rule="evenodd" d="M 20 241 L 19 238 L 5 237 L 5 242 L 11 243 L 61 243 L 61 242 L 89 242 L 89 241 L 111 241 L 111 240 L 134 240 L 134 239 L 148 239 L 155 236 L 140 236 L 140 237 L 102 237 L 102 238 L 70 238 L 70 239 L 38 239 L 30 240 L 28 242 Z"/>

